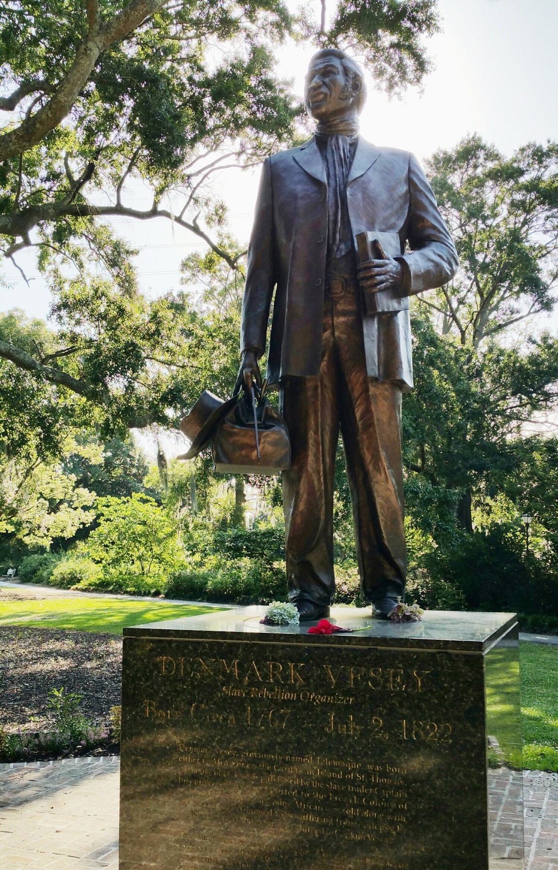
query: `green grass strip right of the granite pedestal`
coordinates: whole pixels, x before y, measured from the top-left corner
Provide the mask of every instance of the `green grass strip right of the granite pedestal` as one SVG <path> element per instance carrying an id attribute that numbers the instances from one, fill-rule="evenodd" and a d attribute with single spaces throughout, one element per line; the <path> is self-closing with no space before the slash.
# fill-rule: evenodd
<path id="1" fill-rule="evenodd" d="M 558 646 L 520 644 L 523 766 L 558 771 Z"/>

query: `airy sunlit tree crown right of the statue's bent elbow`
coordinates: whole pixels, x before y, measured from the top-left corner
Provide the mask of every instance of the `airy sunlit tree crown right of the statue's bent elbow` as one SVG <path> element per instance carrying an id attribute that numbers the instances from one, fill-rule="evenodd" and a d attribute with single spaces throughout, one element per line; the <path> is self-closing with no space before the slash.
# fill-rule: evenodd
<path id="1" fill-rule="evenodd" d="M 442 333 L 477 348 L 509 325 L 550 311 L 558 278 L 558 144 L 503 157 L 477 134 L 436 151 L 428 170 L 461 269 L 431 291 Z"/>

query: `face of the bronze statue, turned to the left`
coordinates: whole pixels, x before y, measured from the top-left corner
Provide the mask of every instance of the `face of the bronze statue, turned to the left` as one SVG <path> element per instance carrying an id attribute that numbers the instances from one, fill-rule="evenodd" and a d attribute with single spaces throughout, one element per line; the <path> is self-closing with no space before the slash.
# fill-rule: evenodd
<path id="1" fill-rule="evenodd" d="M 354 80 L 352 89 L 348 84 L 338 57 L 318 57 L 309 66 L 304 86 L 304 102 L 309 114 L 316 121 L 322 121 L 352 109 L 360 83 Z"/>

